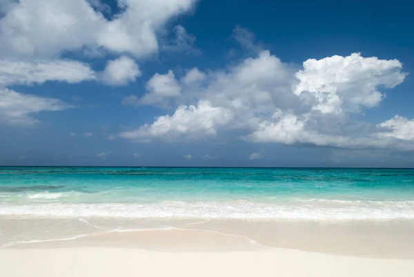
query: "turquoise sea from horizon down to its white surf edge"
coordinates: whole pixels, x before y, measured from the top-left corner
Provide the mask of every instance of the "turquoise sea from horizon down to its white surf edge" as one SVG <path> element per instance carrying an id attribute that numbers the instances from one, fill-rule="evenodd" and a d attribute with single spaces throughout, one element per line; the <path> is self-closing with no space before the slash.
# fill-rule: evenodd
<path id="1" fill-rule="evenodd" d="M 0 167 L 0 215 L 411 220 L 414 170 Z"/>

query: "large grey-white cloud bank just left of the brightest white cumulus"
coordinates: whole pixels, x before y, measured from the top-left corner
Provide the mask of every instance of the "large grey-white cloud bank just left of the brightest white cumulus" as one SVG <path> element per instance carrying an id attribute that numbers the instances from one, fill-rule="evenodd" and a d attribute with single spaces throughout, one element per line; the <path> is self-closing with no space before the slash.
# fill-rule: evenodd
<path id="1" fill-rule="evenodd" d="M 278 101 L 286 95 L 292 79 L 288 72 L 288 66 L 270 56 L 268 51 L 262 52 L 257 59 L 246 59 L 228 72 L 206 74 L 193 68 L 173 83 L 179 85 L 176 90 L 182 91 L 184 99 L 204 99 L 195 105 L 181 105 L 173 115 L 158 117 L 153 124 L 124 132 L 121 137 L 170 140 L 181 136 L 216 135 L 218 128 L 228 124 L 232 128 L 250 128 L 257 124 L 255 113 L 273 111 L 273 97 Z M 133 102 L 134 99 L 130 97 L 128 100 Z"/>

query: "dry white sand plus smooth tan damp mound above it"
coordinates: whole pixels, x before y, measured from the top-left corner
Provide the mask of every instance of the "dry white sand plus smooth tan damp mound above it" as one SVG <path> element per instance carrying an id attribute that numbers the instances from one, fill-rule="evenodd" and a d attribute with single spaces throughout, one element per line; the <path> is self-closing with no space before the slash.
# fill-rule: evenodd
<path id="1" fill-rule="evenodd" d="M 411 277 L 414 259 L 266 247 L 217 231 L 170 229 L 15 245 L 0 250 L 0 276 Z"/>

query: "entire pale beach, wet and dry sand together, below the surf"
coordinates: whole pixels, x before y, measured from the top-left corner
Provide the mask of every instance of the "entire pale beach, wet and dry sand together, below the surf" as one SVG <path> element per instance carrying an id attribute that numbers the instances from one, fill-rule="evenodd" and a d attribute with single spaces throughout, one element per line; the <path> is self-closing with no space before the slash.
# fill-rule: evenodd
<path id="1" fill-rule="evenodd" d="M 0 249 L 7 277 L 414 276 L 413 221 L 7 220 L 3 231 L 55 231 L 49 241 Z M 91 233 L 53 238 L 68 227 Z"/>

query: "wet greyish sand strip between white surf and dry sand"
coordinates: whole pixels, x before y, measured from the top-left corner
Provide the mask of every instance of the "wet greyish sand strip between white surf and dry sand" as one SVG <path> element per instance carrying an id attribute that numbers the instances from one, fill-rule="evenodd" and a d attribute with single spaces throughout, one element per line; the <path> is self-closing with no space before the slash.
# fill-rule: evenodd
<path id="1" fill-rule="evenodd" d="M 334 223 L 0 217 L 0 225 L 3 225 L 0 249 L 116 247 L 240 251 L 259 246 L 340 256 L 414 259 L 411 220 Z M 31 228 L 28 230 L 27 226 Z"/>

